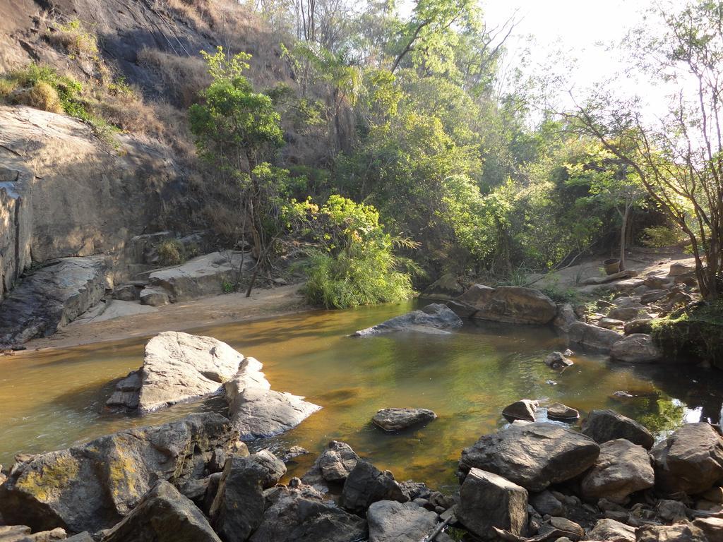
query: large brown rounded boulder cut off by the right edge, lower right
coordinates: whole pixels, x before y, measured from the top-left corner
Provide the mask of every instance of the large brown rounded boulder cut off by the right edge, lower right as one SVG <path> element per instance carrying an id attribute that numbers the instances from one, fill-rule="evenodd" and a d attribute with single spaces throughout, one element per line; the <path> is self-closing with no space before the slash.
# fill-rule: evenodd
<path id="1" fill-rule="evenodd" d="M 652 450 L 655 487 L 695 495 L 723 481 L 723 439 L 709 423 L 688 423 Z"/>

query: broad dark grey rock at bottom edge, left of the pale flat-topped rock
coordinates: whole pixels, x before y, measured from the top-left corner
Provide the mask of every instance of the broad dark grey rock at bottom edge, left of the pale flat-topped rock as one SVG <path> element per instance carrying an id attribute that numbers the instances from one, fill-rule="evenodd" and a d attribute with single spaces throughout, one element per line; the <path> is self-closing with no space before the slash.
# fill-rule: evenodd
<path id="1" fill-rule="evenodd" d="M 267 496 L 250 542 L 355 542 L 367 539 L 367 522 L 304 489 L 275 488 Z M 233 538 L 232 540 L 243 540 Z"/>

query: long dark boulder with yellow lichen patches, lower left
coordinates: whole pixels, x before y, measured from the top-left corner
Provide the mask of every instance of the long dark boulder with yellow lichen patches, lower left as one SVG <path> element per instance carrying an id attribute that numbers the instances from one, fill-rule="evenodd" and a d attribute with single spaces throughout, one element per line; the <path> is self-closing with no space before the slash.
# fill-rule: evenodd
<path id="1" fill-rule="evenodd" d="M 0 487 L 0 514 L 34 530 L 95 533 L 127 515 L 156 481 L 181 487 L 200 478 L 214 452 L 234 442 L 231 423 L 208 413 L 35 455 Z"/>

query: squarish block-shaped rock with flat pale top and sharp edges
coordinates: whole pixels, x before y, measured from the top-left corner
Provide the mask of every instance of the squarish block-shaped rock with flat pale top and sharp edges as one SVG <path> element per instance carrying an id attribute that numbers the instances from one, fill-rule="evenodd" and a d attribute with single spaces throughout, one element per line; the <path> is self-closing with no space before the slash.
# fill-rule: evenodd
<path id="1" fill-rule="evenodd" d="M 521 535 L 527 525 L 527 491 L 502 476 L 472 468 L 459 491 L 458 520 L 472 533 L 496 540 L 494 527 Z"/>

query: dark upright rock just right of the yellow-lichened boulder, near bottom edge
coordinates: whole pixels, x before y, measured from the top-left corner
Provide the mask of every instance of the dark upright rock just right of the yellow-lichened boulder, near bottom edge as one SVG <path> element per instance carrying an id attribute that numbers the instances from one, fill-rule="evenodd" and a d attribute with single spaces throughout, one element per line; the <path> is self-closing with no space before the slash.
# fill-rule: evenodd
<path id="1" fill-rule="evenodd" d="M 226 461 L 209 514 L 214 530 L 223 540 L 245 541 L 261 525 L 263 489 L 268 477 L 268 468 L 251 456 L 234 456 Z"/>

